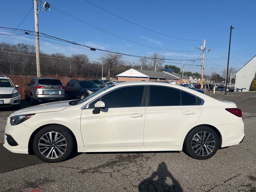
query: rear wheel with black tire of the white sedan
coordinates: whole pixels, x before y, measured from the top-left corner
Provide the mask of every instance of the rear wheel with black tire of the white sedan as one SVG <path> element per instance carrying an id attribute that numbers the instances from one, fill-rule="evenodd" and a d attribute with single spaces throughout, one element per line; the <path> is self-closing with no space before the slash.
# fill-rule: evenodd
<path id="1" fill-rule="evenodd" d="M 188 132 L 184 140 L 184 151 L 192 158 L 198 160 L 211 158 L 218 148 L 219 137 L 212 128 L 207 126 L 193 128 Z"/>

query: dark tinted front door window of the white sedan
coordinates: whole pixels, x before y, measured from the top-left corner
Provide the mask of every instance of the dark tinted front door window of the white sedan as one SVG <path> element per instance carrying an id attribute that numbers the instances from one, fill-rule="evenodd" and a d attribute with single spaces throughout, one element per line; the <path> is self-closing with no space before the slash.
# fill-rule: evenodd
<path id="1" fill-rule="evenodd" d="M 139 107 L 142 106 L 144 86 L 131 86 L 114 90 L 101 97 L 105 107 Z"/>

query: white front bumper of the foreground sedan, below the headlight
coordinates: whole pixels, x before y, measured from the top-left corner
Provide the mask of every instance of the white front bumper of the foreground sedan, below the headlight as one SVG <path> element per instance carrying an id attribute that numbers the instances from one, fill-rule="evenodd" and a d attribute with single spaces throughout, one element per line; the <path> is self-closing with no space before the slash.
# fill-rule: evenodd
<path id="1" fill-rule="evenodd" d="M 10 118 L 8 118 L 8 122 L 5 127 L 4 132 L 4 147 L 13 153 L 22 153 L 22 154 L 28 154 L 28 142 L 30 139 L 30 136 L 33 133 L 33 130 L 28 128 L 24 124 L 18 124 L 18 125 L 11 125 Z M 12 144 L 8 143 L 7 136 L 11 136 L 13 140 L 18 144 L 16 146 L 12 146 Z"/>

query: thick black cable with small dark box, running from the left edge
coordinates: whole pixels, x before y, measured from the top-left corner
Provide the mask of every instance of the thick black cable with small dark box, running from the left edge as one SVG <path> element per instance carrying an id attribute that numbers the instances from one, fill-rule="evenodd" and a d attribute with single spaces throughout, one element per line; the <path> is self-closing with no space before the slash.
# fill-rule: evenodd
<path id="1" fill-rule="evenodd" d="M 6 28 L 6 27 L 0 27 L 0 28 Z M 33 33 L 35 33 L 34 31 L 31 31 L 31 30 L 14 29 L 14 28 L 8 28 L 8 29 L 21 30 L 21 31 L 24 31 L 24 32 L 33 32 Z M 109 50 L 102 50 L 102 49 L 99 49 L 99 48 L 92 48 L 91 46 L 87 46 L 87 45 L 83 45 L 83 44 L 78 44 L 78 43 L 76 43 L 76 42 L 72 42 L 72 41 L 69 41 L 69 40 L 64 40 L 64 39 L 62 39 L 62 38 L 58 38 L 58 37 L 55 37 L 55 36 L 51 36 L 51 35 L 48 35 L 48 34 L 44 34 L 44 33 L 42 33 L 42 32 L 38 32 L 38 33 L 44 35 L 46 38 L 54 38 L 54 40 L 58 40 L 58 41 L 67 42 L 67 43 L 70 43 L 70 44 L 75 44 L 75 45 L 87 47 L 87 48 L 89 48 L 90 50 L 94 50 L 94 51 L 95 51 L 95 50 L 99 50 L 99 51 L 104 51 L 104 52 L 109 52 L 109 53 L 114 53 L 114 54 L 120 54 L 120 55 L 125 55 L 125 56 L 133 56 L 133 57 L 137 57 L 137 58 L 156 59 L 156 58 L 152 58 L 152 57 L 137 56 L 137 55 L 125 54 L 125 53 L 114 52 L 114 51 L 109 51 Z M 185 60 L 185 61 L 194 61 L 194 59 L 165 59 L 165 58 L 158 58 L 158 60 L 171 60 L 171 61 L 183 61 L 183 60 Z M 198 60 L 202 60 L 202 59 L 198 59 Z"/>

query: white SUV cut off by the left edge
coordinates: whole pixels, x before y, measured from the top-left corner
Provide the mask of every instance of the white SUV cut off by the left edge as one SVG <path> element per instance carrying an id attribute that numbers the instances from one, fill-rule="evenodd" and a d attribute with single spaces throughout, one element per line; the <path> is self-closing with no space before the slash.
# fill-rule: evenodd
<path id="1" fill-rule="evenodd" d="M 20 107 L 20 94 L 16 88 L 19 86 L 14 86 L 10 78 L 0 76 L 0 108 L 13 106 L 18 109 Z"/>

